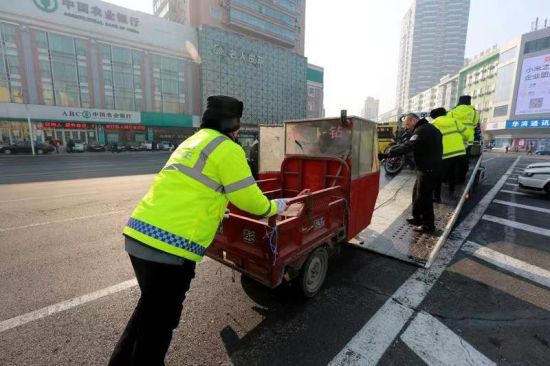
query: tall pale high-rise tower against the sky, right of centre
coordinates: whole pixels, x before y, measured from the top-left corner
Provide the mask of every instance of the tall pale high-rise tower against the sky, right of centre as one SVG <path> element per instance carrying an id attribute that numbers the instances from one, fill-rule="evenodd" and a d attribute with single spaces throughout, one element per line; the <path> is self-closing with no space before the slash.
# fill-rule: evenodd
<path id="1" fill-rule="evenodd" d="M 396 105 L 464 64 L 470 0 L 415 0 L 403 17 Z"/>

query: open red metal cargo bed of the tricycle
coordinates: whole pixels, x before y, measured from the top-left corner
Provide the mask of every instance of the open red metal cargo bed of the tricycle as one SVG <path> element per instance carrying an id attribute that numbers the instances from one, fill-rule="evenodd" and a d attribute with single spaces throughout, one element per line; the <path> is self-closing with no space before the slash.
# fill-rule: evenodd
<path id="1" fill-rule="evenodd" d="M 291 166 L 296 159 L 287 159 L 285 163 Z M 302 165 L 307 170 L 308 164 L 319 163 L 335 176 L 339 170 L 344 177 L 349 174 L 345 163 L 337 159 L 308 159 Z M 344 168 L 340 169 L 342 164 Z M 328 180 L 322 179 L 317 180 L 316 191 L 300 192 L 298 188 L 302 185 L 296 177 L 295 174 L 283 177 L 278 189 L 273 189 L 274 179 L 259 181 L 260 188 L 269 187 L 264 192 L 268 191 L 271 198 L 294 197 L 289 208 L 283 215 L 261 219 L 232 207 L 232 213 L 208 249 L 208 256 L 266 286 L 276 287 L 285 275 L 287 279 L 295 277 L 314 249 L 332 248 L 345 240 L 348 193 L 341 185 L 330 186 Z"/>

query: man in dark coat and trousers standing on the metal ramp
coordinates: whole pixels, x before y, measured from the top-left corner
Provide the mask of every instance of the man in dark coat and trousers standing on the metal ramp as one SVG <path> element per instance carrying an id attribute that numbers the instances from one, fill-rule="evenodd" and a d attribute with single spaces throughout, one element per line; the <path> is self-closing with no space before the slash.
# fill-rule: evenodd
<path id="1" fill-rule="evenodd" d="M 412 217 L 407 219 L 414 230 L 430 233 L 435 231 L 433 192 L 442 168 L 443 138 L 441 132 L 425 118 L 409 113 L 405 125 L 412 131 L 411 138 L 395 147 L 388 154 L 378 154 L 379 159 L 414 154 L 416 182 L 413 188 Z"/>

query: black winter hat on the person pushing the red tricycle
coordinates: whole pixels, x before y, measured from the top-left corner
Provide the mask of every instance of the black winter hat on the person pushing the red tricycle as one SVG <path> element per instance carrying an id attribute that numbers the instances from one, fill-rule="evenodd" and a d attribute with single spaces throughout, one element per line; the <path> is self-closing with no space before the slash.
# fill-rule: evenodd
<path id="1" fill-rule="evenodd" d="M 243 107 L 243 102 L 236 98 L 225 95 L 210 96 L 206 99 L 201 128 L 210 128 L 221 133 L 236 131 L 240 127 Z"/>

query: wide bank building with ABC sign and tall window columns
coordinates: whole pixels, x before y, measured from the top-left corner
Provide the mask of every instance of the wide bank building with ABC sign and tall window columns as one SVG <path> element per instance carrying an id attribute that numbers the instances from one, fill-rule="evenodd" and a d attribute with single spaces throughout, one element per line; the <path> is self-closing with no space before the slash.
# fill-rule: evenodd
<path id="1" fill-rule="evenodd" d="M 199 124 L 189 26 L 97 0 L 11 1 L 0 37 L 2 143 L 179 143 Z"/>

